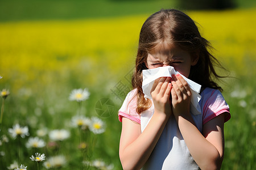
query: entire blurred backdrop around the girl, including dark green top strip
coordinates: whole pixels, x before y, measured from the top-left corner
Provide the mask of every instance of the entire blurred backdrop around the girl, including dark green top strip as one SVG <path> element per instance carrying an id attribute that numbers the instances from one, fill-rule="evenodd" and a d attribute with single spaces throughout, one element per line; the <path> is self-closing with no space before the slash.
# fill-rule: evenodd
<path id="1" fill-rule="evenodd" d="M 144 20 L 161 8 L 177 8 L 191 16 L 215 48 L 213 55 L 229 70 L 219 73 L 232 76 L 219 82 L 232 114 L 225 124 L 221 169 L 255 169 L 253 0 L 1 0 L 0 91 L 9 90 L 10 95 L 2 114 L 0 169 L 11 169 L 15 160 L 33 169 L 29 158 L 35 152 L 46 158 L 64 155 L 61 169 L 86 169 L 80 165 L 86 162 L 79 147 L 81 133 L 70 125 L 80 111 L 106 124 L 105 132 L 96 135 L 90 161 L 101 160 L 111 164 L 109 169 L 122 169 L 117 112 L 131 90 L 139 31 Z M 90 92 L 81 105 L 69 101 L 69 94 L 77 88 Z M 57 152 L 49 147 L 52 141 L 47 133 L 40 137 L 47 145 L 31 149 L 26 147 L 29 137 L 11 137 L 8 129 L 14 124 L 27 126 L 30 137 L 36 137 L 39 129 L 65 129 L 71 135 Z"/>

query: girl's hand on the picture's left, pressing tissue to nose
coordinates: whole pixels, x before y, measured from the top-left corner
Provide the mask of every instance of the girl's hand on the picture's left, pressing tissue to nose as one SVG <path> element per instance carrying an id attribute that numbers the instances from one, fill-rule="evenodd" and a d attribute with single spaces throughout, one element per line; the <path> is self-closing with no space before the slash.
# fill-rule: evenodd
<path id="1" fill-rule="evenodd" d="M 164 113 L 170 116 L 172 113 L 170 94 L 172 84 L 171 77 L 160 77 L 155 80 L 151 88 L 151 96 L 155 107 L 155 113 Z"/>

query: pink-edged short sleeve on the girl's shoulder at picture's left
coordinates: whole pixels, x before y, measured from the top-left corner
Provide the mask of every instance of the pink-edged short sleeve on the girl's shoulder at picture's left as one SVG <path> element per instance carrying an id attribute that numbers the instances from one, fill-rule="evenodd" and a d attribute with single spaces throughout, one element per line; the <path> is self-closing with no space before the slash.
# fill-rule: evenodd
<path id="1" fill-rule="evenodd" d="M 125 100 L 123 101 L 122 107 L 118 111 L 119 121 L 122 122 L 122 118 L 129 118 L 131 121 L 141 124 L 141 116 L 137 112 L 137 88 L 131 90 Z"/>

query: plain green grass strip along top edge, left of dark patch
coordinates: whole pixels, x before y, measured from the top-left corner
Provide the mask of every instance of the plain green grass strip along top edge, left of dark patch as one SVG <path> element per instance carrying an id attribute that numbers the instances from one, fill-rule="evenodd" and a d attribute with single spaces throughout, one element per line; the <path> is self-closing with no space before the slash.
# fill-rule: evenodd
<path id="1" fill-rule="evenodd" d="M 175 1 L 108 0 L 1 0 L 0 21 L 81 19 L 151 14 L 161 8 L 175 7 Z"/>

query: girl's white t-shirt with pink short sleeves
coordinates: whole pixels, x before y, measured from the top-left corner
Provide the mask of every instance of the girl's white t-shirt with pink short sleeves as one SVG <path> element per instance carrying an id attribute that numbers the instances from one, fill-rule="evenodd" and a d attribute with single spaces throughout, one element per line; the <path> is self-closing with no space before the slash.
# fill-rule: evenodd
<path id="1" fill-rule="evenodd" d="M 152 103 L 147 111 L 139 115 L 136 112 L 137 97 L 135 94 L 136 89 L 127 94 L 122 107 L 119 109 L 118 117 L 121 122 L 122 117 L 126 117 L 141 124 L 141 131 L 143 132 L 154 114 L 154 104 Z M 201 133 L 203 132 L 203 125 L 206 122 L 222 113 L 226 113 L 225 122 L 230 119 L 229 105 L 226 104 L 220 91 L 205 88 L 200 95 L 201 100 L 199 101 L 199 105 L 201 114 L 191 115 L 197 129 L 199 129 Z M 193 160 L 173 115 L 169 118 L 158 143 L 142 169 L 200 169 Z"/>

